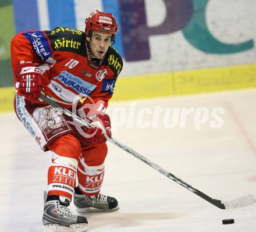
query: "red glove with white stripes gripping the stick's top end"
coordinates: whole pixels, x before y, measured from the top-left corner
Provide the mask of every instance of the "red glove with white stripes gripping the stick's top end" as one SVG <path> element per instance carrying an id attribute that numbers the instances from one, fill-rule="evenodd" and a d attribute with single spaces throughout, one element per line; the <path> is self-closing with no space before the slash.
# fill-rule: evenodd
<path id="1" fill-rule="evenodd" d="M 15 69 L 17 94 L 29 101 L 37 100 L 42 90 L 42 71 L 31 63 L 24 63 Z"/>

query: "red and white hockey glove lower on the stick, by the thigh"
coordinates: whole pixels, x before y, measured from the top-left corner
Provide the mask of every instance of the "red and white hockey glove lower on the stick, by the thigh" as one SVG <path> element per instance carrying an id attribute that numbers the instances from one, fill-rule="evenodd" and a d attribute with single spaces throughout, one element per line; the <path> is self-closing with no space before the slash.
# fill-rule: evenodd
<path id="1" fill-rule="evenodd" d="M 86 140 L 101 144 L 106 142 L 106 136 L 111 138 L 111 122 L 108 115 L 98 115 L 91 124 L 93 126 L 86 129 Z"/>

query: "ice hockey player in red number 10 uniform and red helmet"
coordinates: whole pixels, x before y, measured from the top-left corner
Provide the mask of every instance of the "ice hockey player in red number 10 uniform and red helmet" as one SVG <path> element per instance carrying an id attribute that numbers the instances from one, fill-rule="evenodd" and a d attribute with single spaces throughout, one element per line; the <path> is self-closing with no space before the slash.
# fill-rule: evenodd
<path id="1" fill-rule="evenodd" d="M 42 222 L 54 231 L 63 226 L 88 230 L 86 217 L 67 208 L 72 197 L 80 213 L 88 208 L 119 209 L 115 198 L 100 193 L 106 136 L 111 138 L 105 110 L 123 66 L 111 46 L 117 30 L 111 13 L 95 10 L 86 19 L 85 32 L 66 27 L 28 30 L 11 42 L 16 115 L 43 151 L 52 152 Z M 77 125 L 42 101 L 40 94 L 78 113 L 93 127 Z"/>

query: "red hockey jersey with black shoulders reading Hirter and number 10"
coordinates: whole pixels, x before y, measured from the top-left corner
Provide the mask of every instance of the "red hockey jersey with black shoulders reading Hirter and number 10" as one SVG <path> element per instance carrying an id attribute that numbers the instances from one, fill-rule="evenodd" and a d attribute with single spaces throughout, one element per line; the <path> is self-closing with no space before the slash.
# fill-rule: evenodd
<path id="1" fill-rule="evenodd" d="M 84 32 L 63 27 L 17 34 L 11 42 L 11 53 L 13 73 L 22 63 L 34 63 L 44 73 L 45 94 L 66 108 L 87 97 L 90 101 L 86 99 L 85 103 L 101 99 L 106 107 L 123 66 L 121 56 L 111 46 L 95 63 Z"/>

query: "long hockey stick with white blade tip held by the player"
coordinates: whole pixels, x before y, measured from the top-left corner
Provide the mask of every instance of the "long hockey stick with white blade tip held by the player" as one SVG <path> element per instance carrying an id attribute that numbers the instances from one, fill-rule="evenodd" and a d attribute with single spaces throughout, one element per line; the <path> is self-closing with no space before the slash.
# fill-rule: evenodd
<path id="1" fill-rule="evenodd" d="M 47 102 L 49 105 L 54 106 L 55 108 L 62 109 L 63 113 L 65 113 L 65 115 L 72 117 L 73 120 L 75 120 L 76 122 L 79 122 L 79 123 L 83 124 L 86 127 L 91 127 L 90 123 L 87 123 L 85 120 L 81 119 L 81 117 L 75 115 L 74 113 L 70 112 L 69 110 L 63 108 L 62 106 L 59 106 L 56 102 L 54 102 L 51 99 L 45 97 L 44 95 L 41 94 L 40 98 L 43 101 Z M 254 195 L 250 195 L 250 194 L 249 195 L 244 195 L 243 197 L 236 198 L 236 199 L 233 199 L 233 200 L 230 200 L 230 201 L 221 201 L 221 200 L 218 200 L 218 199 L 211 198 L 208 195 L 204 194 L 203 192 L 197 190 L 196 188 L 194 188 L 190 184 L 187 184 L 183 180 L 179 179 L 178 177 L 176 177 L 172 173 L 170 173 L 167 170 L 163 169 L 162 167 L 158 166 L 154 162 L 152 162 L 152 161 L 148 160 L 147 158 L 145 158 L 144 156 L 138 154 L 136 151 L 133 151 L 132 149 L 130 149 L 126 145 L 121 144 L 120 142 L 118 142 L 114 138 L 108 138 L 107 137 L 107 140 L 109 142 L 111 142 L 112 144 L 116 145 L 117 147 L 119 147 L 119 148 L 123 149 L 124 151 L 128 152 L 129 154 L 133 155 L 135 158 L 141 160 L 143 163 L 146 163 L 148 166 L 151 166 L 153 169 L 157 170 L 159 173 L 162 173 L 164 176 L 166 176 L 169 179 L 175 181 L 177 184 L 182 185 L 184 188 L 187 188 L 187 190 L 189 190 L 191 192 L 194 192 L 194 194 L 196 194 L 199 197 L 205 199 L 206 201 L 208 201 L 209 203 L 211 203 L 212 205 L 215 205 L 216 207 L 218 207 L 220 209 L 240 208 L 240 207 L 244 207 L 244 206 L 248 206 L 248 205 L 253 205 L 255 203 Z"/>

